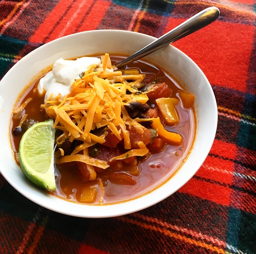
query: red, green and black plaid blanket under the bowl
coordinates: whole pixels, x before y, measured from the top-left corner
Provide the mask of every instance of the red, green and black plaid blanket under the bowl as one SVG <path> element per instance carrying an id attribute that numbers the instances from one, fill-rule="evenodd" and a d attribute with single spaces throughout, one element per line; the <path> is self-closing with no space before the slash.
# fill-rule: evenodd
<path id="1" fill-rule="evenodd" d="M 95 29 L 159 37 L 209 6 L 218 20 L 173 44 L 203 70 L 218 105 L 197 174 L 153 207 L 109 219 L 47 210 L 0 176 L 0 253 L 256 253 L 255 0 L 2 0 L 0 77 L 55 38 Z"/>

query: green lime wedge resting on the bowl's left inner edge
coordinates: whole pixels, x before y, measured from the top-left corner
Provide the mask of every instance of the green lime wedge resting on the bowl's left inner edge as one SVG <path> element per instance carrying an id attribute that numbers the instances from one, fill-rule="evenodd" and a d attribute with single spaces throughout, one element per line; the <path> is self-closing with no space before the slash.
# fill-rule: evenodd
<path id="1" fill-rule="evenodd" d="M 24 174 L 37 186 L 55 190 L 53 120 L 32 125 L 19 144 L 19 161 Z"/>

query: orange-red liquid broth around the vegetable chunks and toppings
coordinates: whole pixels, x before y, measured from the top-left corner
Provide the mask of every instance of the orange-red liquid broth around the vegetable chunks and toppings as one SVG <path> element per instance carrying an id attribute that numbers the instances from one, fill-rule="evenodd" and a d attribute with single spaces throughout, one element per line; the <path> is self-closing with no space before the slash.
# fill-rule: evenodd
<path id="1" fill-rule="evenodd" d="M 116 55 L 110 55 L 110 57 L 112 64 L 124 59 L 124 57 Z M 127 68 L 138 68 L 141 73 L 155 74 L 157 82 L 168 84 L 172 90 L 171 97 L 180 99 L 178 92 L 179 90 L 184 90 L 184 88 L 159 67 L 144 61 L 136 61 L 129 64 Z M 40 108 L 40 105 L 44 104 L 44 95 L 39 95 L 36 89 L 40 78 L 29 86 L 17 102 L 17 106 L 19 106 L 27 98 L 32 98 L 25 110 L 26 114 L 28 114 L 27 118 L 33 119 L 35 122 L 43 122 L 48 119 L 45 110 Z M 147 104 L 151 108 L 157 109 L 155 101 L 149 101 Z M 59 164 L 56 165 L 57 168 L 55 169 L 56 190 L 51 194 L 73 202 L 107 204 L 136 198 L 160 186 L 180 168 L 189 154 L 195 137 L 194 107 L 184 108 L 180 101 L 176 106 L 176 110 L 180 115 L 179 123 L 175 126 L 166 125 L 165 128 L 169 131 L 180 133 L 183 138 L 182 144 L 178 146 L 166 144 L 160 152 L 153 152 L 147 158 L 140 158 L 136 165 L 134 163 L 125 165 L 120 172 L 133 176 L 136 179 L 135 185 L 116 184 L 106 176 L 102 176 L 102 174 L 98 174 L 98 178 L 94 181 L 84 182 L 76 165 Z M 12 118 L 10 124 L 12 148 L 16 158 L 19 142 L 24 132 L 19 136 L 14 136 L 12 130 L 19 124 L 19 121 L 19 119 Z M 103 185 L 100 184 L 99 178 Z M 85 194 L 84 192 L 87 193 Z M 84 199 L 84 196 L 87 197 Z"/>

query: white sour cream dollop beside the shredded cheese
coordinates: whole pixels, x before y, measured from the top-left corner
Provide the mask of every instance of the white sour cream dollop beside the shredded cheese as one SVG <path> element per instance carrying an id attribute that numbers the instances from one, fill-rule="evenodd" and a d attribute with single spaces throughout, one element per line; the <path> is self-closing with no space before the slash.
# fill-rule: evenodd
<path id="1" fill-rule="evenodd" d="M 52 94 L 52 100 L 60 94 L 63 99 L 71 92 L 73 81 L 81 72 L 88 70 L 92 65 L 99 66 L 101 61 L 96 57 L 81 57 L 76 60 L 64 60 L 60 58 L 53 65 L 53 70 L 40 79 L 38 91 L 42 94 L 46 91 L 44 103 Z"/>

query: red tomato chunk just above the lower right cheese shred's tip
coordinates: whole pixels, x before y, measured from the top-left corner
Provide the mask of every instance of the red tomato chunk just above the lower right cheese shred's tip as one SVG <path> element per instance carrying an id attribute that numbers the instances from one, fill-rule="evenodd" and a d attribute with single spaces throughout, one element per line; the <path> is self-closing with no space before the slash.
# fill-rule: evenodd
<path id="1" fill-rule="evenodd" d="M 130 126 L 127 128 L 129 131 L 130 141 L 131 141 L 131 148 L 139 148 L 138 142 L 142 141 L 145 145 L 149 144 L 152 141 L 152 132 L 151 130 L 143 127 L 144 132 L 138 133 L 134 126 Z"/>

